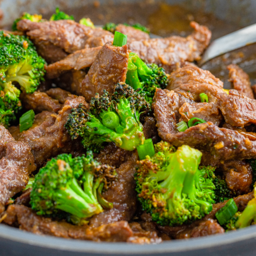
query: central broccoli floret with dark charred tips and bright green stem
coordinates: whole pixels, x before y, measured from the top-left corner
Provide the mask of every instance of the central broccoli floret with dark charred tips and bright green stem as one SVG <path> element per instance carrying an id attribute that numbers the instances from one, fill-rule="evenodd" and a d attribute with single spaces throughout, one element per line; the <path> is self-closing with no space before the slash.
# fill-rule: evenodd
<path id="1" fill-rule="evenodd" d="M 105 90 L 102 96 L 96 93 L 90 110 L 83 104 L 71 110 L 65 125 L 68 133 L 72 139 L 81 136 L 83 146 L 95 153 L 103 149 L 106 142 L 134 150 L 145 140 L 140 116 L 150 112 L 139 90 L 118 83 L 112 96 Z"/>

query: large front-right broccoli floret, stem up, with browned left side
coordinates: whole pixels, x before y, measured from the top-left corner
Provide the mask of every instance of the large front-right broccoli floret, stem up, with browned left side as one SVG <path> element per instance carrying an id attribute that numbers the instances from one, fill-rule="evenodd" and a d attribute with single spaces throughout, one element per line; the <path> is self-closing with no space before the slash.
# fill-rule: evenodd
<path id="1" fill-rule="evenodd" d="M 181 225 L 201 219 L 212 210 L 213 169 L 198 169 L 202 153 L 187 145 L 173 152 L 167 142 L 155 146 L 156 154 L 139 161 L 136 191 L 143 210 L 160 225 Z"/>

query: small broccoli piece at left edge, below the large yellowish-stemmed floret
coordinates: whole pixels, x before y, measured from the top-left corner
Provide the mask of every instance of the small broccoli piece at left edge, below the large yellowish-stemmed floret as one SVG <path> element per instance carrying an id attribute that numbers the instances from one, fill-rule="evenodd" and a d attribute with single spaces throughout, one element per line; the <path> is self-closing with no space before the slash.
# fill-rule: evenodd
<path id="1" fill-rule="evenodd" d="M 21 109 L 20 90 L 11 82 L 0 83 L 0 124 L 6 128 L 16 120 L 15 114 Z"/>

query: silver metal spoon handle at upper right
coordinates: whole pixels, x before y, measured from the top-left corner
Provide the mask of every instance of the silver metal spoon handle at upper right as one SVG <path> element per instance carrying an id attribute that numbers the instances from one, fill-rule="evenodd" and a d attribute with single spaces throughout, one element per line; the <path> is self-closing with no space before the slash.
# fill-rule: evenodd
<path id="1" fill-rule="evenodd" d="M 205 50 L 199 66 L 224 53 L 256 42 L 256 24 L 242 28 L 228 35 L 222 36 L 210 43 Z"/>

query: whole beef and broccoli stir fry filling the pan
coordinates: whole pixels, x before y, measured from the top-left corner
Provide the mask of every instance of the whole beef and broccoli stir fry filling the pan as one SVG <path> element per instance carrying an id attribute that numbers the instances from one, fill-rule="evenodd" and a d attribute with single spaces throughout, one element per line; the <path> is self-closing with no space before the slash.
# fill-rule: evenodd
<path id="1" fill-rule="evenodd" d="M 191 27 L 56 8 L 0 32 L 0 225 L 157 244 L 256 223 L 256 86 L 199 68 L 211 31 Z"/>

